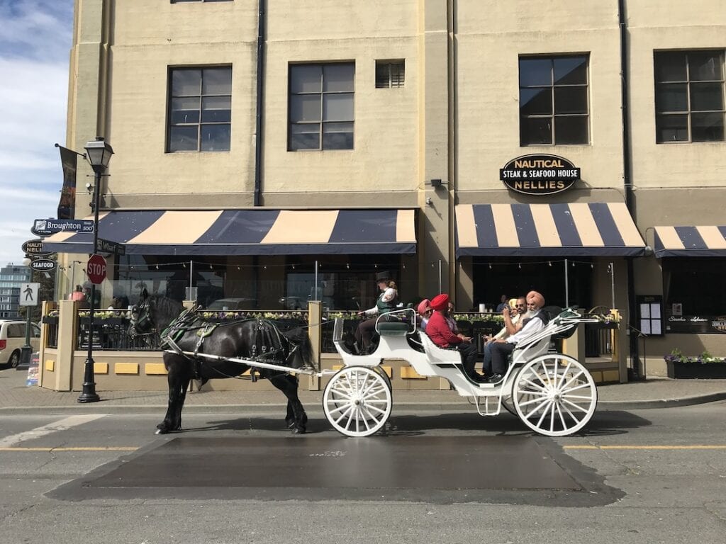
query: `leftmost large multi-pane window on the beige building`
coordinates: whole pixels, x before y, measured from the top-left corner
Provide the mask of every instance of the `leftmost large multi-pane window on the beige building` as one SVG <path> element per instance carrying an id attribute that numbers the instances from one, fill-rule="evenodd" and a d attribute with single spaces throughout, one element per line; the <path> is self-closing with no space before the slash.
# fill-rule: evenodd
<path id="1" fill-rule="evenodd" d="M 169 71 L 168 152 L 229 151 L 232 67 Z"/>

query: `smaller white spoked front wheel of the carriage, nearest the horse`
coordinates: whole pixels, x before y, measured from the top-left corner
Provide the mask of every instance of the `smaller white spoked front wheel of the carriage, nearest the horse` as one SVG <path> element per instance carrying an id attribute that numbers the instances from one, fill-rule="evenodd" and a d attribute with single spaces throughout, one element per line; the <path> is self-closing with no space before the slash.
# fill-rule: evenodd
<path id="1" fill-rule="evenodd" d="M 388 421 L 392 405 L 391 387 L 367 366 L 342 368 L 327 382 L 322 397 L 327 421 L 348 437 L 378 432 Z"/>

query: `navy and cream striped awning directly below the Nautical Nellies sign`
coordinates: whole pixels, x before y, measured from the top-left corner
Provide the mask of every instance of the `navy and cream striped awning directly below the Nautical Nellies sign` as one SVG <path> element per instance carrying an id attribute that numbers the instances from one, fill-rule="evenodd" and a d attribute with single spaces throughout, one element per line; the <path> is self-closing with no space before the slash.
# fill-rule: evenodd
<path id="1" fill-rule="evenodd" d="M 456 207 L 457 257 L 464 255 L 643 255 L 623 202 L 466 204 Z"/>

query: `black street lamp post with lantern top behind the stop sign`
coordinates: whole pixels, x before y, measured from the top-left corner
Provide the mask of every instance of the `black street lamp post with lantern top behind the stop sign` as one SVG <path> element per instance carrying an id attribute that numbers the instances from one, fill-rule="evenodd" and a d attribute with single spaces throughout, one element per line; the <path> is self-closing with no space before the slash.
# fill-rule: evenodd
<path id="1" fill-rule="evenodd" d="M 101 200 L 101 176 L 108 168 L 113 149 L 103 138 L 98 136 L 86 144 L 86 159 L 95 174 L 93 188 L 93 252 L 98 251 L 98 207 Z M 96 393 L 93 360 L 94 311 L 96 310 L 96 284 L 91 283 L 91 300 L 89 301 L 89 353 L 83 367 L 83 390 L 78 397 L 79 403 L 95 403 L 100 399 Z"/>

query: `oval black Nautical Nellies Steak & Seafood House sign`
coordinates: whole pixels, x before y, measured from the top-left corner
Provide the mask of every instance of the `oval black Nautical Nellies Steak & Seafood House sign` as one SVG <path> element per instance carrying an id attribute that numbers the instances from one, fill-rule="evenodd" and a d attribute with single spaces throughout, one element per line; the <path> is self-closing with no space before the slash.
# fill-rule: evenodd
<path id="1" fill-rule="evenodd" d="M 499 170 L 499 179 L 513 191 L 524 194 L 554 194 L 566 191 L 580 178 L 580 169 L 557 155 L 523 155 Z"/>

